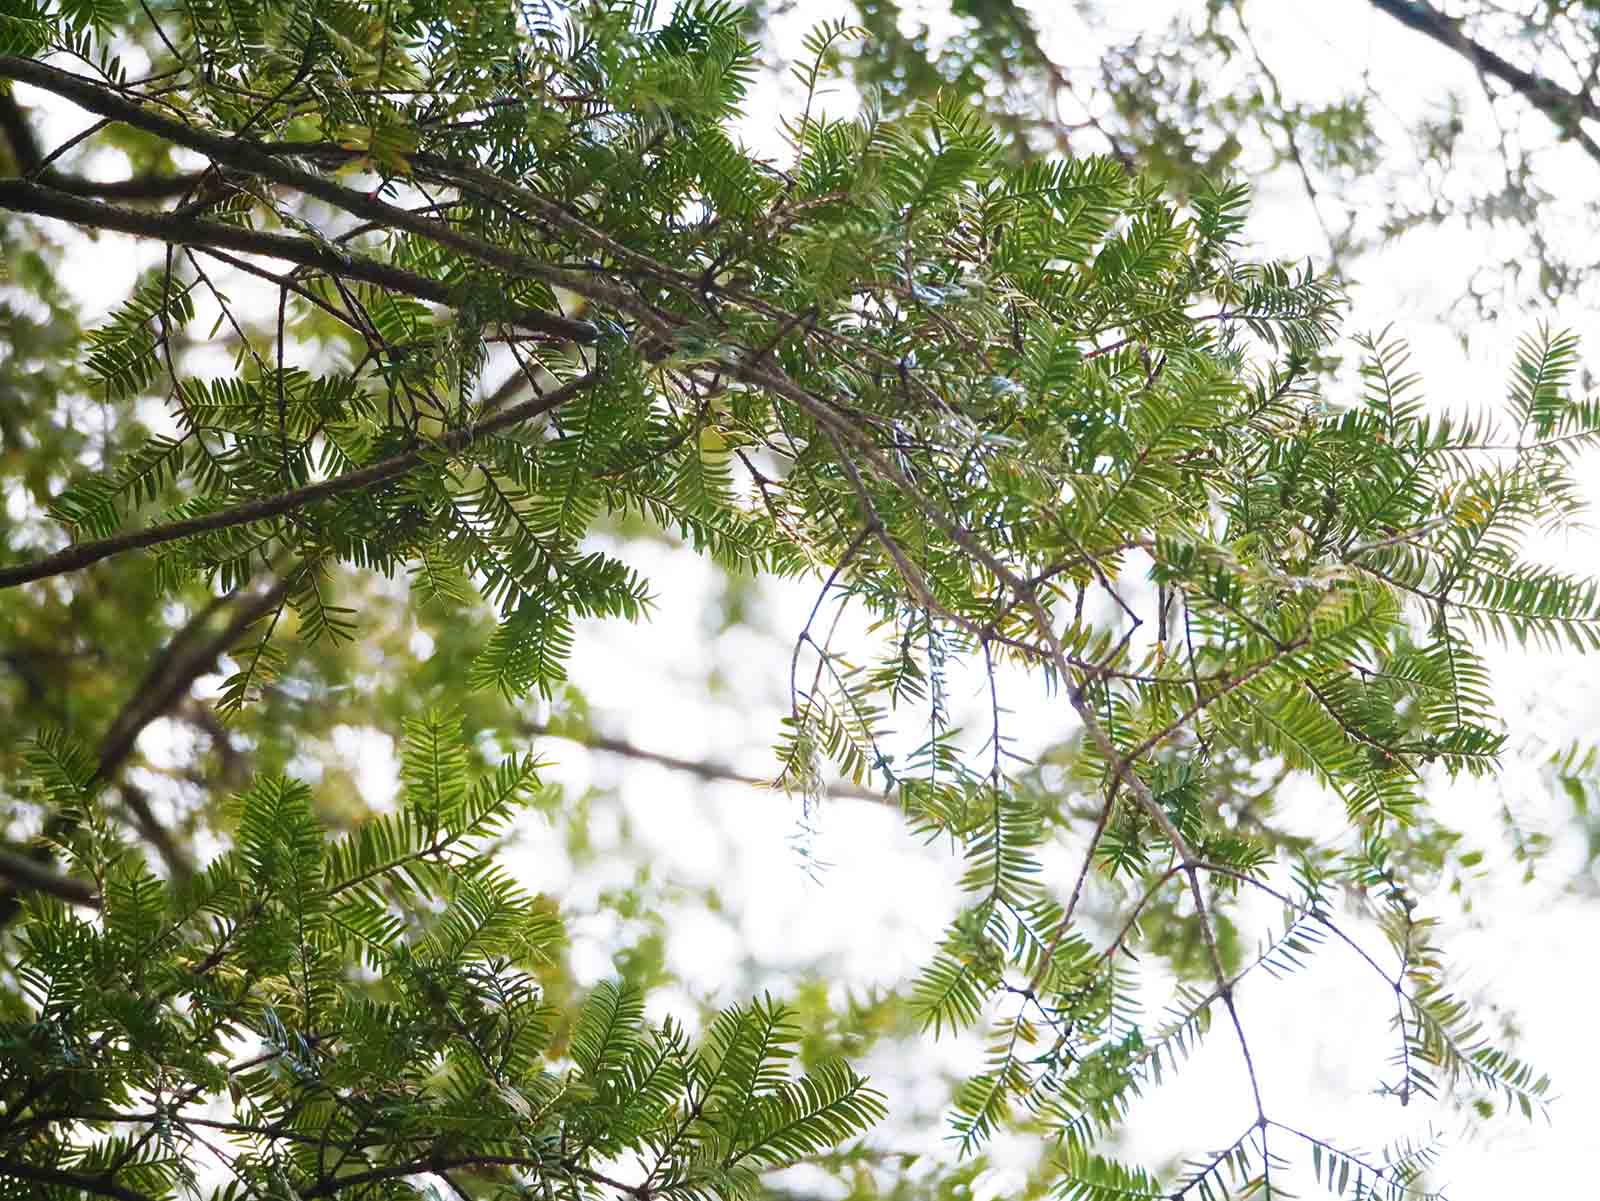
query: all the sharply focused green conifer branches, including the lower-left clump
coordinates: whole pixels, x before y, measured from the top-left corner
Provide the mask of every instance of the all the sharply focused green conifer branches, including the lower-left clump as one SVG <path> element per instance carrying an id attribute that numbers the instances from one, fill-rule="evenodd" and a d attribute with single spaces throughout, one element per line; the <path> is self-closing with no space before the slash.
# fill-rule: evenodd
<path id="1" fill-rule="evenodd" d="M 813 804 L 832 764 L 965 856 L 968 904 L 906 988 L 930 1038 L 992 1047 L 955 1099 L 962 1151 L 1038 1131 L 1069 1198 L 1286 1195 L 1296 1172 L 1403 1196 L 1434 1147 L 1400 1105 L 1544 1105 L 1450 993 L 1408 880 L 1427 782 L 1496 769 L 1477 643 L 1600 641 L 1595 585 L 1518 552 L 1578 513 L 1571 461 L 1600 437 L 1571 337 L 1528 337 L 1504 400 L 1459 414 L 1426 409 L 1386 337 L 1318 390 L 1338 293 L 1238 257 L 1245 189 L 1179 208 L 1114 160 L 1016 165 L 958 99 L 834 120 L 845 27 L 808 40 L 790 152 L 758 158 L 728 131 L 754 46 L 720 3 L 13 0 L 0 37 L 14 304 L 66 305 L 61 222 L 162 248 L 58 339 L 72 371 L 38 429 L 6 432 L 26 470 L 90 406 L 118 430 L 29 485 L 48 513 L 8 518 L 0 587 L 29 620 L 147 565 L 150 595 L 234 606 L 216 708 L 248 721 L 293 646 L 366 636 L 341 589 L 381 574 L 462 622 L 496 611 L 464 702 L 549 692 L 576 620 L 648 617 L 650 584 L 590 537 L 645 521 L 819 582 L 779 780 Z M 45 149 L 40 98 L 85 133 Z M 126 176 L 75 170 L 101 146 Z M 512 384 L 480 385 L 491 358 Z M 882 636 L 837 644 L 824 600 Z M 952 657 L 994 681 L 981 747 L 949 728 Z M 1013 668 L 1077 731 L 1048 788 L 1011 752 Z M 891 753 L 896 723 L 928 734 Z M 790 1070 L 776 1001 L 691 1046 L 627 988 L 547 996 L 560 918 L 491 854 L 538 764 L 474 766 L 450 718 L 406 726 L 395 812 L 330 838 L 304 784 L 262 776 L 224 854 L 160 875 L 115 820 L 149 836 L 138 806 L 101 798 L 94 732 L 40 729 L 8 782 L 45 832 L 0 859 L 10 1196 L 731 1198 L 883 1116 L 850 1067 Z M 1320 784 L 1342 835 L 1243 820 L 1264 766 Z M 1037 852 L 1059 830 L 1058 880 Z M 1109 931 L 1077 912 L 1091 891 Z M 1390 960 L 1341 891 L 1371 897 Z M 1259 896 L 1283 924 L 1246 952 Z M 1282 1124 L 1258 1086 L 1250 990 L 1330 940 L 1394 998 L 1374 1075 L 1400 1150 Z M 1157 1022 L 1136 947 L 1181 980 Z M 1237 1140 L 1163 1182 L 1099 1155 L 1213 1017 L 1250 1068 Z"/>

